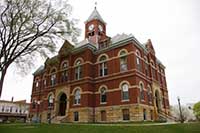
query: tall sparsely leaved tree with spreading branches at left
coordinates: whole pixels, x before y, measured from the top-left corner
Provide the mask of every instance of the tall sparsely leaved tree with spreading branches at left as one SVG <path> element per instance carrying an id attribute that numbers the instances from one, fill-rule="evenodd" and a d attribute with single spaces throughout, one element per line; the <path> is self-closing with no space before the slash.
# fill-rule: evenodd
<path id="1" fill-rule="evenodd" d="M 77 20 L 69 18 L 71 10 L 62 0 L 0 2 L 0 96 L 11 64 L 25 71 L 38 54 L 46 57 L 55 52 L 58 38 L 76 41 L 79 29 L 75 27 Z"/>

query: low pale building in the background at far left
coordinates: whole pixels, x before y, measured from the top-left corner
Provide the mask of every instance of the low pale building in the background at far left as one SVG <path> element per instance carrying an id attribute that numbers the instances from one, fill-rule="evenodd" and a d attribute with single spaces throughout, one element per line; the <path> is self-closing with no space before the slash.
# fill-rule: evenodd
<path id="1" fill-rule="evenodd" d="M 26 121 L 29 114 L 29 106 L 26 100 L 0 100 L 0 122 Z"/>

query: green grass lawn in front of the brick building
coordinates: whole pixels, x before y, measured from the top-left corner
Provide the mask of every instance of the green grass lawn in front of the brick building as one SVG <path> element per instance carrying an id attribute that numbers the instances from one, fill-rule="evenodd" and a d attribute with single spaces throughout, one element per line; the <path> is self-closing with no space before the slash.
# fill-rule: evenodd
<path id="1" fill-rule="evenodd" d="M 0 133 L 200 133 L 200 123 L 139 124 L 1 124 Z"/>

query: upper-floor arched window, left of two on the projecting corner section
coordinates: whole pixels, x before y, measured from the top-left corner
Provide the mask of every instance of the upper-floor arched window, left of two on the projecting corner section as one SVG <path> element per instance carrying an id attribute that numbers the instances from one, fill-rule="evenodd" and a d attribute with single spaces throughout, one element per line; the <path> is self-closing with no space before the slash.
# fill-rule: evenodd
<path id="1" fill-rule="evenodd" d="M 107 67 L 107 58 L 105 55 L 101 56 L 100 58 L 100 76 L 105 76 L 108 74 L 108 67 Z"/>

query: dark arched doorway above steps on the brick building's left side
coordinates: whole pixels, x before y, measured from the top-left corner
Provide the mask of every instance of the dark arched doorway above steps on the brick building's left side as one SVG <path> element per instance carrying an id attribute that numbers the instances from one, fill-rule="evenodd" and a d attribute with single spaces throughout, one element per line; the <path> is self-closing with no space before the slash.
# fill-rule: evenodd
<path id="1" fill-rule="evenodd" d="M 59 116 L 65 115 L 66 107 L 67 107 L 67 96 L 65 93 L 62 93 L 59 99 L 59 111 L 58 111 Z"/>

